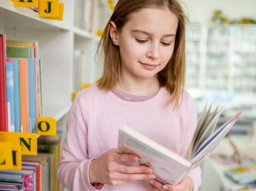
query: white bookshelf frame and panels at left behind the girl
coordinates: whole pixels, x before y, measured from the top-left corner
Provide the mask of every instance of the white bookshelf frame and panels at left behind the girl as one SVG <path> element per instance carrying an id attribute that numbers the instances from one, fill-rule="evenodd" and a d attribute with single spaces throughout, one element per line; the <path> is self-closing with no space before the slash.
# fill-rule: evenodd
<path id="1" fill-rule="evenodd" d="M 74 50 L 86 52 L 86 83 L 94 82 L 100 75 L 94 58 L 99 38 L 93 34 L 97 28 L 90 33 L 75 27 L 74 1 L 60 2 L 65 4 L 63 21 L 43 19 L 33 10 L 13 7 L 9 0 L 0 4 L 0 32 L 6 33 L 7 39 L 39 42 L 43 115 L 56 118 L 57 123 L 67 114 L 72 102 Z M 98 4 L 94 5 L 94 22 Z"/>

